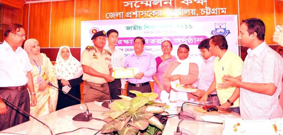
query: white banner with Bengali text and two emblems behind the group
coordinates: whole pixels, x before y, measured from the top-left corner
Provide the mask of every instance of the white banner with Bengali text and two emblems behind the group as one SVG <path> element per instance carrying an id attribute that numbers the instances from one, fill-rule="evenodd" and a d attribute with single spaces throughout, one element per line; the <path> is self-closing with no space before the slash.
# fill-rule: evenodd
<path id="1" fill-rule="evenodd" d="M 224 35 L 228 49 L 239 55 L 237 22 L 237 15 L 82 21 L 81 53 L 86 46 L 93 46 L 91 37 L 95 32 L 115 29 L 119 32 L 117 48 L 124 52 L 125 57 L 134 52 L 134 38 L 140 36 L 146 42 L 144 50 L 155 57 L 163 54 L 161 43 L 165 40 L 173 44 L 171 54 L 176 57 L 178 45 L 187 44 L 192 61 L 201 67 L 198 44 L 213 35 Z"/>

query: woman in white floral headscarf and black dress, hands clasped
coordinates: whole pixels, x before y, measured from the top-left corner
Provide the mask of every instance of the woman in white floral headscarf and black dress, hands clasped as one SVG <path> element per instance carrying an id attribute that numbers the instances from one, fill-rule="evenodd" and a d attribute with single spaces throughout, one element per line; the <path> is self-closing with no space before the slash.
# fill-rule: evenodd
<path id="1" fill-rule="evenodd" d="M 80 83 L 82 80 L 82 65 L 72 56 L 69 46 L 61 46 L 57 54 L 55 70 L 57 73 L 59 89 L 81 99 Z M 80 104 L 80 101 L 59 91 L 56 110 Z"/>

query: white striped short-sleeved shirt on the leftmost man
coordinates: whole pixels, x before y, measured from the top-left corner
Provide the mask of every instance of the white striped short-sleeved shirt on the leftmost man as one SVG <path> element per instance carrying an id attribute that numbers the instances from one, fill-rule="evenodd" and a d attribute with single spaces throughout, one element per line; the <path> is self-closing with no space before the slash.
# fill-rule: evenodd
<path id="1" fill-rule="evenodd" d="M 27 72 L 32 67 L 28 54 L 21 47 L 13 51 L 12 47 L 4 41 L 0 45 L 0 87 L 14 87 L 27 84 Z"/>

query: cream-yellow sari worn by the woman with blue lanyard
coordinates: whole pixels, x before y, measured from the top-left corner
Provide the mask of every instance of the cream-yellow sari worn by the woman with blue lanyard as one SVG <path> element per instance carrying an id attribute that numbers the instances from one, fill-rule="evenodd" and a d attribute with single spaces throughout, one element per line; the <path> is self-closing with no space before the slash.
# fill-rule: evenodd
<path id="1" fill-rule="evenodd" d="M 54 86 L 58 87 L 57 76 L 55 67 L 52 65 L 50 59 L 44 53 L 40 53 L 42 56 L 43 64 L 41 66 L 41 73 L 36 65 L 32 65 L 33 85 L 36 93 L 37 103 L 35 106 L 30 106 L 30 114 L 34 117 L 40 117 L 56 111 L 56 105 L 58 100 L 58 89 L 47 86 L 44 91 L 38 91 L 39 84 L 37 77 L 40 76 L 44 80 L 47 79 Z"/>

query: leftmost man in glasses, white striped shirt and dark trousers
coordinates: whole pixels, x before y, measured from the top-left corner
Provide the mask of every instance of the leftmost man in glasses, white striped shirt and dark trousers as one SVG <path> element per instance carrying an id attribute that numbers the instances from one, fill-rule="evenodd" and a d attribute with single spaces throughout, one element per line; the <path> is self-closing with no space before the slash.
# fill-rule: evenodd
<path id="1" fill-rule="evenodd" d="M 30 106 L 36 105 L 37 102 L 33 89 L 33 76 L 30 73 L 32 67 L 28 54 L 21 48 L 25 41 L 23 26 L 9 25 L 4 37 L 5 40 L 0 46 L 0 131 L 29 121 L 28 115 L 20 113 L 5 100 L 28 113 Z"/>

